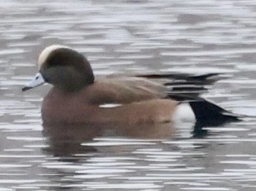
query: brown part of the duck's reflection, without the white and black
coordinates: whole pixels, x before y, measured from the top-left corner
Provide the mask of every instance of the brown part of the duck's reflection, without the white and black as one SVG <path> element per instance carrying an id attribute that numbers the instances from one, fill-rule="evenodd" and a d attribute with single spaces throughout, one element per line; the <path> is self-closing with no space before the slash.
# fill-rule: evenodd
<path id="1" fill-rule="evenodd" d="M 54 156 L 73 156 L 86 152 L 97 152 L 93 146 L 82 146 L 95 137 L 129 137 L 140 139 L 166 139 L 173 137 L 174 125 L 170 122 L 158 125 L 122 125 L 121 127 L 98 127 L 92 125 L 43 124 L 47 137 L 48 152 Z"/>

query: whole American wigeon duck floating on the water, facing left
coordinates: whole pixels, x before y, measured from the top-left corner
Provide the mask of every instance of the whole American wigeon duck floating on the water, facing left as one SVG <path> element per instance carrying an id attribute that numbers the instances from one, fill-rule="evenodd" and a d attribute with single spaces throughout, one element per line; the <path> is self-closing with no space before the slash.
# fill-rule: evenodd
<path id="1" fill-rule="evenodd" d="M 180 80 L 173 83 L 175 87 L 170 88 L 170 76 Z M 40 54 L 39 72 L 23 91 L 45 82 L 53 85 L 42 103 L 42 120 L 46 123 L 141 125 L 188 118 L 204 125 L 238 119 L 231 112 L 198 97 L 198 93 L 174 91 L 179 91 L 177 83 L 183 80 L 188 84 L 197 80 L 201 83 L 209 76 L 112 75 L 96 79 L 83 54 L 65 46 L 51 45 Z"/>

